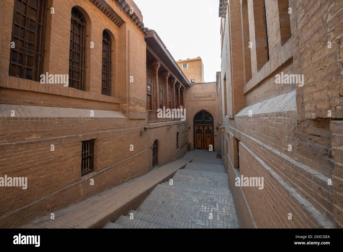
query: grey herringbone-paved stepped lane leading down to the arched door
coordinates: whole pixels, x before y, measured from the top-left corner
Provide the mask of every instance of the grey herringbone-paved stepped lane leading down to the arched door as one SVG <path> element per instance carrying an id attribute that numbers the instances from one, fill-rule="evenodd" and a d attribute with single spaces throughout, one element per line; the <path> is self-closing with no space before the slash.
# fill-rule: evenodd
<path id="1" fill-rule="evenodd" d="M 222 160 L 198 150 L 184 158 L 193 161 L 175 173 L 173 185 L 157 185 L 135 211 L 104 228 L 238 228 Z"/>

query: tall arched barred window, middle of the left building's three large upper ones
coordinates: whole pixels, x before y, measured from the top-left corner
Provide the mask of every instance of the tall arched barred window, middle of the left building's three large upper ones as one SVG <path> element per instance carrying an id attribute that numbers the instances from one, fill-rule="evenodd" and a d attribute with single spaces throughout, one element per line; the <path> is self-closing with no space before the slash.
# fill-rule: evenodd
<path id="1" fill-rule="evenodd" d="M 86 21 L 81 12 L 71 9 L 69 86 L 85 91 Z"/>

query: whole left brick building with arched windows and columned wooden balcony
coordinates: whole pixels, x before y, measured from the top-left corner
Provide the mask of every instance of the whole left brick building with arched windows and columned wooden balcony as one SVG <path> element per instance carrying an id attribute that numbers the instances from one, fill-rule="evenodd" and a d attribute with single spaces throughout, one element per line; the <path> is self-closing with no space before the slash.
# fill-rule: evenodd
<path id="1" fill-rule="evenodd" d="M 25 2 L 0 3 L 0 177 L 27 177 L 26 190 L 0 187 L 0 227 L 142 176 L 188 146 L 187 121 L 156 118 L 156 107 L 184 107 L 190 82 L 132 0 Z M 55 81 L 63 74 L 69 86 Z"/>

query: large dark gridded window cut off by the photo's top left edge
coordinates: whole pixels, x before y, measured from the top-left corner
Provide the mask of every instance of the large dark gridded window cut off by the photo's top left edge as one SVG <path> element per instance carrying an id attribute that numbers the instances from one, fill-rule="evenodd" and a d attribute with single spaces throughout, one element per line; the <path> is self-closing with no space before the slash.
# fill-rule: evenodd
<path id="1" fill-rule="evenodd" d="M 15 0 L 9 75 L 39 81 L 43 73 L 45 0 Z"/>

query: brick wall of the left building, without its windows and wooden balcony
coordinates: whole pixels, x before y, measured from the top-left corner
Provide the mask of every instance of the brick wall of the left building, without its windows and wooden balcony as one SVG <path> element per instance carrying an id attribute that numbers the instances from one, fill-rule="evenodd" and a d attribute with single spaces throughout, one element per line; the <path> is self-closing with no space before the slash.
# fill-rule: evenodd
<path id="1" fill-rule="evenodd" d="M 171 148 L 176 146 L 180 126 L 187 121 L 171 127 L 170 123 L 159 123 L 144 130 L 145 34 L 122 9 L 123 1 L 119 5 L 118 1 L 106 3 L 107 9 L 90 0 L 47 1 L 44 73 L 68 74 L 71 9 L 75 6 L 85 17 L 86 91 L 80 91 L 9 76 L 14 0 L 1 1 L 0 177 L 27 177 L 28 187 L 0 188 L 0 227 L 18 227 L 144 175 L 152 169 L 156 139 L 160 166 L 187 151 L 187 144 L 178 150 Z M 126 3 L 142 21 L 134 2 Z M 55 14 L 50 13 L 51 7 Z M 109 18 L 109 9 L 122 20 L 120 26 Z M 102 95 L 101 90 L 104 30 L 113 49 L 111 96 Z M 15 117 L 10 116 L 11 110 Z M 94 171 L 81 177 L 81 142 L 91 139 L 95 139 Z M 94 186 L 90 179 L 94 179 Z"/>

